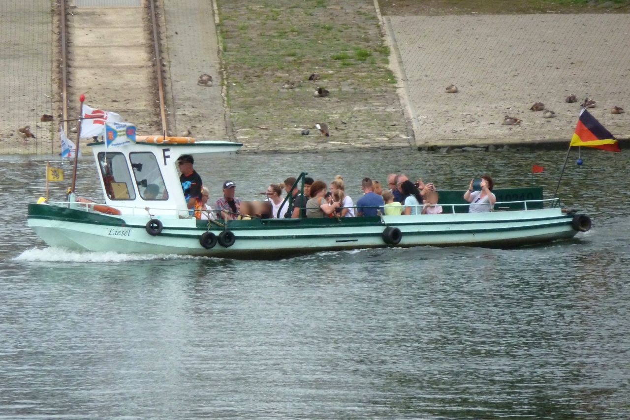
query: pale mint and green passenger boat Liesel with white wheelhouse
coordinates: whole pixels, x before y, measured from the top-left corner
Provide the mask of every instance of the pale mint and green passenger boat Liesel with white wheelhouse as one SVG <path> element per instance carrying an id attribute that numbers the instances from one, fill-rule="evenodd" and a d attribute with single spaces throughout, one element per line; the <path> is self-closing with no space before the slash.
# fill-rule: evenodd
<path id="1" fill-rule="evenodd" d="M 489 213 L 467 213 L 463 191 L 440 191 L 445 212 L 440 215 L 197 220 L 186 208 L 177 158 L 234 152 L 242 144 L 137 142 L 106 149 L 103 142 L 96 142 L 90 146 L 103 203 L 69 195 L 63 202 L 28 205 L 28 225 L 49 246 L 272 259 L 381 247 L 515 247 L 568 239 L 590 229 L 586 215 L 563 210 L 557 198 L 543 200 L 542 188 L 494 190 L 497 202 Z M 156 197 L 147 194 L 151 184 L 159 187 Z"/>

